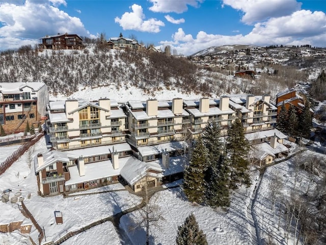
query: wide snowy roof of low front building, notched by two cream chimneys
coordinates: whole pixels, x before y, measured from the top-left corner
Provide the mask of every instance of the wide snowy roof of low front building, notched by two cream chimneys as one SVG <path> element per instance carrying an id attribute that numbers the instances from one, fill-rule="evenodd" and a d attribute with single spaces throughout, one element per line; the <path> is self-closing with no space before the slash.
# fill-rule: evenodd
<path id="1" fill-rule="evenodd" d="M 93 162 L 85 164 L 85 175 L 79 176 L 78 167 L 68 167 L 70 180 L 65 182 L 65 185 L 73 185 L 77 183 L 83 183 L 91 180 L 103 179 L 111 176 L 120 175 L 121 169 L 130 157 L 119 158 L 119 168 L 114 169 L 111 160 Z"/>

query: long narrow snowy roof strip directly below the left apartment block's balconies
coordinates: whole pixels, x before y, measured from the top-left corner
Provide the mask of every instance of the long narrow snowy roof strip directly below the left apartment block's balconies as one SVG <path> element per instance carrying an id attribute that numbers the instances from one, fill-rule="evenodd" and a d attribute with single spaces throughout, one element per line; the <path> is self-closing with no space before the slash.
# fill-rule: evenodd
<path id="1" fill-rule="evenodd" d="M 76 149 L 72 151 L 66 151 L 70 158 L 77 159 L 79 156 L 83 157 L 91 157 L 91 156 L 99 156 L 110 154 L 114 151 L 117 152 L 127 152 L 131 151 L 131 147 L 128 143 L 119 143 L 119 144 L 112 144 L 112 145 L 100 145 L 85 149 Z"/>

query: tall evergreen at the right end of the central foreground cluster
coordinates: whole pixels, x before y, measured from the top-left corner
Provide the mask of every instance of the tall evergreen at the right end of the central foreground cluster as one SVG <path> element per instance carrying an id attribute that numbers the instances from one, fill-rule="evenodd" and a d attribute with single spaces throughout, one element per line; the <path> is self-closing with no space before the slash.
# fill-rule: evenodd
<path id="1" fill-rule="evenodd" d="M 230 158 L 230 188 L 237 184 L 250 185 L 248 153 L 249 142 L 244 138 L 244 130 L 239 118 L 228 129 L 227 154 Z"/>

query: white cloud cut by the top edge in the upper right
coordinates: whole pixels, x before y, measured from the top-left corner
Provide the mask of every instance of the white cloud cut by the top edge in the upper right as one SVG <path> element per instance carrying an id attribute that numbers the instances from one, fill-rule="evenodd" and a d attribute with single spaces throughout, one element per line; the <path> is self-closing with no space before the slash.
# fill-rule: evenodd
<path id="1" fill-rule="evenodd" d="M 223 5 L 242 11 L 244 15 L 241 21 L 250 24 L 270 17 L 289 15 L 300 10 L 302 4 L 296 0 L 223 0 Z"/>

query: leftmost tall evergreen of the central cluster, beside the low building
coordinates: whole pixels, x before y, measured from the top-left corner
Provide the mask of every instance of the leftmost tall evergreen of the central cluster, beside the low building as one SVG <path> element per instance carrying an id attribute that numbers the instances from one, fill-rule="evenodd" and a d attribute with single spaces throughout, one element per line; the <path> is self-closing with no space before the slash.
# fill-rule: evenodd
<path id="1" fill-rule="evenodd" d="M 208 152 L 202 138 L 197 139 L 189 165 L 184 169 L 183 191 L 190 202 L 203 202 L 204 177 L 207 169 Z"/>

